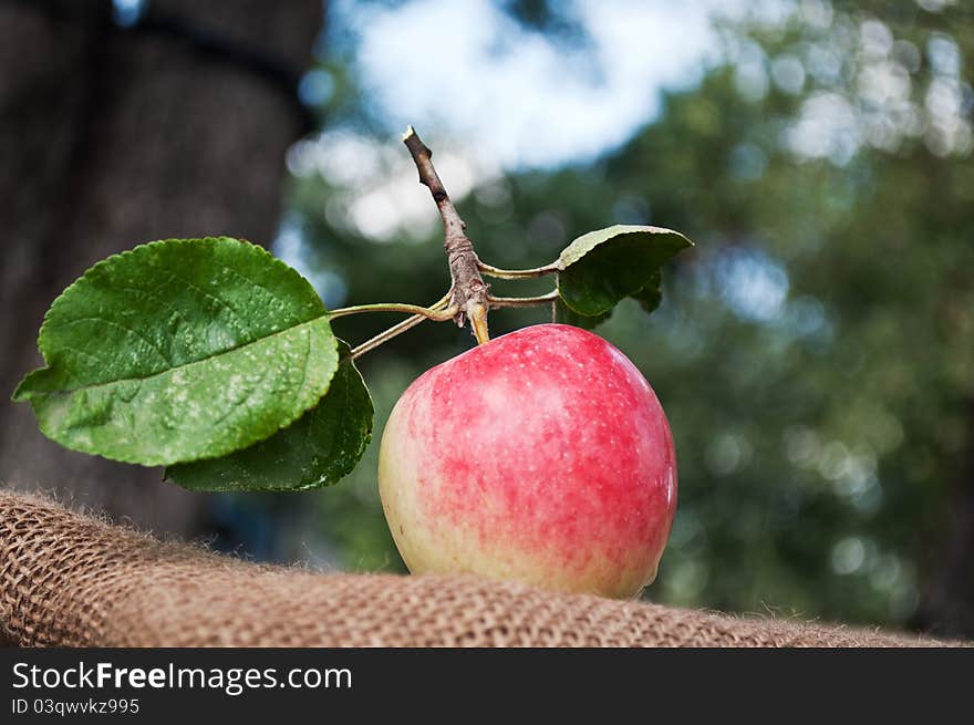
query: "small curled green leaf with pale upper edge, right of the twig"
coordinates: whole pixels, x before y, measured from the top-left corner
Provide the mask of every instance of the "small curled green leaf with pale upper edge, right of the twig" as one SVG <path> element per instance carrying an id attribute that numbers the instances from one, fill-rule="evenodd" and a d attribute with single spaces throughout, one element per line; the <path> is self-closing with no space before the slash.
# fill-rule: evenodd
<path id="1" fill-rule="evenodd" d="M 629 296 L 642 301 L 641 291 L 651 287 L 660 268 L 692 246 L 683 235 L 660 227 L 615 225 L 590 231 L 559 256 L 558 293 L 586 317 L 604 314 Z"/>

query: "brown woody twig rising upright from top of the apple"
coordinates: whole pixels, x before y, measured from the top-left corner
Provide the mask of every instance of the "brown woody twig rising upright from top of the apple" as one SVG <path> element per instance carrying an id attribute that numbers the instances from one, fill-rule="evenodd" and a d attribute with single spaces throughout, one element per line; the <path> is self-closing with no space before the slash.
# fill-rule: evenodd
<path id="1" fill-rule="evenodd" d="M 449 200 L 449 195 L 433 166 L 433 152 L 422 142 L 415 130 L 410 126 L 403 134 L 403 143 L 410 149 L 419 183 L 429 189 L 439 218 L 443 219 L 446 259 L 453 281 L 448 310 L 453 310 L 453 319 L 463 327 L 466 318 L 470 319 L 470 328 L 478 344 L 490 340 L 487 329 L 487 312 L 490 309 L 490 286 L 480 277 L 480 260 L 474 251 L 474 242 L 467 237 L 467 226 Z"/>

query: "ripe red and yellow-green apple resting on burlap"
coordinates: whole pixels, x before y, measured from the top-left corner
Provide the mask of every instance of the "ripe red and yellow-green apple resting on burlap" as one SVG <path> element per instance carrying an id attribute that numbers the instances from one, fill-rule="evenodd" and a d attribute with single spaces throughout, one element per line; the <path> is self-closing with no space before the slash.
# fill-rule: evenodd
<path id="1" fill-rule="evenodd" d="M 423 374 L 380 450 L 382 504 L 413 573 L 633 597 L 676 507 L 666 416 L 625 355 L 539 324 Z"/>

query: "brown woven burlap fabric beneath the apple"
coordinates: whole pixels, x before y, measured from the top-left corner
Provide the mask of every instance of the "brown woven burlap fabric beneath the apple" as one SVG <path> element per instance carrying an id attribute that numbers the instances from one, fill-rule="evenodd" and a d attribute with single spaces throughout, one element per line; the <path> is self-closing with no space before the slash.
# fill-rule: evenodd
<path id="1" fill-rule="evenodd" d="M 0 623 L 9 643 L 66 646 L 940 644 L 473 578 L 258 566 L 3 490 Z"/>

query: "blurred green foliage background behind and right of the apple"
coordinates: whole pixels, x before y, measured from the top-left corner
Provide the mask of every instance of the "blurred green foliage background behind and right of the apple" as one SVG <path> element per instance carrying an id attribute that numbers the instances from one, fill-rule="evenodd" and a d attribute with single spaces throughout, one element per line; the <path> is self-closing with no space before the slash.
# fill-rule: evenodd
<path id="1" fill-rule="evenodd" d="M 777 27 L 727 27 L 726 62 L 625 147 L 459 200 L 481 258 L 506 268 L 610 224 L 697 245 L 664 270 L 652 317 L 626 301 L 599 328 L 650 380 L 676 442 L 678 512 L 650 599 L 930 623 L 918 605 L 945 571 L 951 497 L 974 485 L 974 20 L 888 4 L 801 3 Z M 346 123 L 344 84 L 332 117 Z M 439 228 L 376 241 L 342 214 L 352 193 L 294 178 L 288 224 L 309 265 L 343 281 L 343 303 L 438 299 Z M 495 291 L 512 284 L 550 281 Z M 549 318 L 501 310 L 491 331 Z M 354 343 L 392 321 L 335 330 Z M 308 495 L 343 567 L 403 570 L 376 490 L 385 417 L 472 343 L 431 323 L 362 359 L 375 439 L 346 480 Z M 931 614 L 944 629 L 974 630 L 970 607 L 944 611 Z"/>

